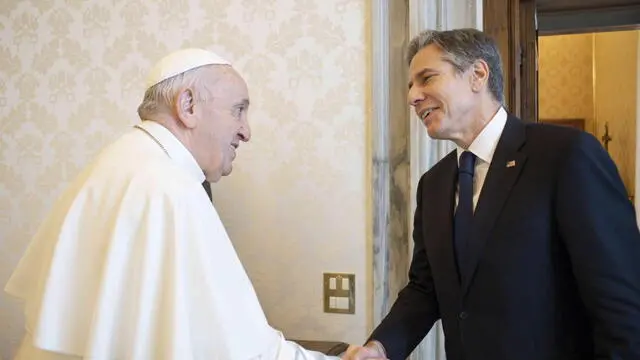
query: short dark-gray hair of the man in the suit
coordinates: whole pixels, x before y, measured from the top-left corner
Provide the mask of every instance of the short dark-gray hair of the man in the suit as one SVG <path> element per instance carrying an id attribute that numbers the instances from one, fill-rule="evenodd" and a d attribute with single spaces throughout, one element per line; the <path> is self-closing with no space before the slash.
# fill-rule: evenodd
<path id="1" fill-rule="evenodd" d="M 475 61 L 484 60 L 489 66 L 489 91 L 498 102 L 504 102 L 502 60 L 498 46 L 489 35 L 477 29 L 425 30 L 409 43 L 407 63 L 431 44 L 437 45 L 444 53 L 444 60 L 460 73 Z"/>

